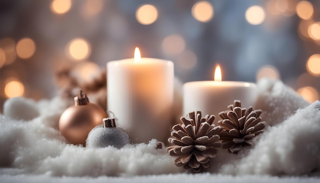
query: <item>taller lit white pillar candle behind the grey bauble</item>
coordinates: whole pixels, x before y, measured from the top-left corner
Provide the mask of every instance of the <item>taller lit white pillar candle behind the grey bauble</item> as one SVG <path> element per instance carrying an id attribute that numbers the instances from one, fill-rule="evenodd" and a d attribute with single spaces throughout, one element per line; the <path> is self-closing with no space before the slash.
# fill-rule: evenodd
<path id="1" fill-rule="evenodd" d="M 138 52 L 134 59 L 107 63 L 107 109 L 133 143 L 166 142 L 172 120 L 173 63 L 140 58 Z"/>

